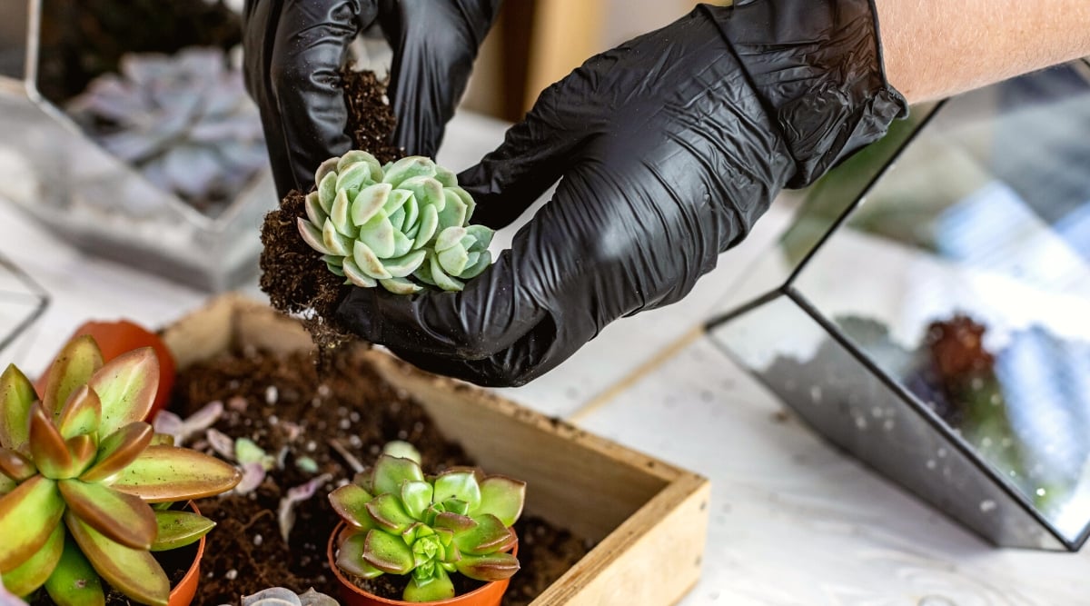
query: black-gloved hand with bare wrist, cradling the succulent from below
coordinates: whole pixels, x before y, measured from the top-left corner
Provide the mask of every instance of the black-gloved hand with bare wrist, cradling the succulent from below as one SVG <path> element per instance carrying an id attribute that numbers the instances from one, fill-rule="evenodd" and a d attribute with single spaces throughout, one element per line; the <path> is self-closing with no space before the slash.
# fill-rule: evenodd
<path id="1" fill-rule="evenodd" d="M 458 293 L 353 288 L 338 319 L 425 369 L 521 385 L 621 316 L 678 301 L 786 185 L 906 111 L 868 0 L 701 5 L 546 89 L 459 175 L 510 251 Z"/>

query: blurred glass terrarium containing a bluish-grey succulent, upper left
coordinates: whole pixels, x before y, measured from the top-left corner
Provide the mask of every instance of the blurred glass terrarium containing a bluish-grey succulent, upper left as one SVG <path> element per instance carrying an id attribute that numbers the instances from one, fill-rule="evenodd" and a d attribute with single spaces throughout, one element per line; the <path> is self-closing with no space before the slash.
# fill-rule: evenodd
<path id="1" fill-rule="evenodd" d="M 240 17 L 206 0 L 9 0 L 3 17 L 0 199 L 198 289 L 256 276 L 277 196 L 228 50 L 241 26 L 219 33 Z"/>

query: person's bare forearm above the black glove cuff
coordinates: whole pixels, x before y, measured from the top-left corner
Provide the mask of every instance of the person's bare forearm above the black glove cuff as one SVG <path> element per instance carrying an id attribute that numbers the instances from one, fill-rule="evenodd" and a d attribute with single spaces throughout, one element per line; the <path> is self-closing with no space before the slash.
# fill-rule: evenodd
<path id="1" fill-rule="evenodd" d="M 886 77 L 909 102 L 1090 54 L 1090 0 L 875 0 Z"/>

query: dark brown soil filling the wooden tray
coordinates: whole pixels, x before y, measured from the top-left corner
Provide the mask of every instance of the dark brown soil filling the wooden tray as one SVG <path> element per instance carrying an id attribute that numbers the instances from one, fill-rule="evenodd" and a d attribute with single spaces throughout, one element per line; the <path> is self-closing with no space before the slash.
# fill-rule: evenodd
<path id="1" fill-rule="evenodd" d="M 441 436 L 421 407 L 377 376 L 361 357 L 364 351 L 359 344 L 338 348 L 322 374 L 305 354 L 279 356 L 255 350 L 223 354 L 180 374 L 172 410 L 185 416 L 219 400 L 225 413 L 216 429 L 232 438 L 249 437 L 283 462 L 251 494 L 198 501 L 202 512 L 218 525 L 208 535 L 194 604 L 238 604 L 242 595 L 277 585 L 298 592 L 314 587 L 339 599 L 326 559 L 326 544 L 339 518 L 326 495 L 354 474 L 346 452 L 366 465 L 387 441 L 402 439 L 421 451 L 429 473 L 473 464 L 460 446 Z M 211 452 L 201 441 L 198 436 L 190 446 Z M 316 471 L 306 469 L 312 462 Z M 328 482 L 295 508 L 286 542 L 277 522 L 281 497 L 322 474 L 329 474 Z M 522 569 L 511 579 L 504 601 L 508 606 L 529 604 L 591 547 L 530 516 L 516 524 L 516 531 Z M 403 585 L 396 578 L 380 579 L 385 591 L 392 592 L 389 597 L 400 596 Z"/>

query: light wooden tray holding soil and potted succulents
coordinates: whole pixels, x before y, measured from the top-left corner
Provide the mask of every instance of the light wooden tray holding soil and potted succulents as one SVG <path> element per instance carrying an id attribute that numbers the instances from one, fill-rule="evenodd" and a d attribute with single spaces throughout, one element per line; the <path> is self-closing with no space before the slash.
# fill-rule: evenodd
<path id="1" fill-rule="evenodd" d="M 211 300 L 164 338 L 180 368 L 233 344 L 313 348 L 296 322 L 235 294 Z M 533 606 L 668 605 L 697 582 L 707 534 L 706 478 L 383 351 L 367 357 L 483 469 L 524 480 L 528 512 L 597 542 Z"/>

